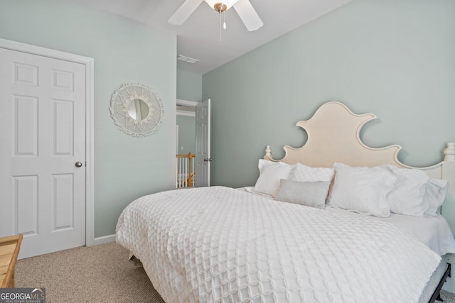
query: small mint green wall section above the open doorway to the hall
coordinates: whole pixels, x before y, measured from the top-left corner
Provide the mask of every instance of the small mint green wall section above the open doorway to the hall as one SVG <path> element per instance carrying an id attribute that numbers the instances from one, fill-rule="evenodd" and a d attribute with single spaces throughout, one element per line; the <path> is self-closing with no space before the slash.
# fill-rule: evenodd
<path id="1" fill-rule="evenodd" d="M 180 64 L 190 63 L 181 62 Z M 177 70 L 177 99 L 202 101 L 202 75 Z"/>

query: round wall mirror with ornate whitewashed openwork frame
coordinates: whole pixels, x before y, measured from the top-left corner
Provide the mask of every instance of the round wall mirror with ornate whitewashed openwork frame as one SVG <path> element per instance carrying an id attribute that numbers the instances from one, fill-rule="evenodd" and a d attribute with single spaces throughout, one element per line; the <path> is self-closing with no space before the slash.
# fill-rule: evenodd
<path id="1" fill-rule="evenodd" d="M 115 125 L 134 137 L 156 133 L 163 123 L 163 103 L 158 94 L 144 84 L 122 84 L 112 94 L 109 111 Z"/>

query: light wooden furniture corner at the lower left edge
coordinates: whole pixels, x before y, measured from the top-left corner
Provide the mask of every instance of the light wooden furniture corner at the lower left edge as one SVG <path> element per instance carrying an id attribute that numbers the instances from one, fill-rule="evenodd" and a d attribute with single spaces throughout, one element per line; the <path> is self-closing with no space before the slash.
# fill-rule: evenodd
<path id="1" fill-rule="evenodd" d="M 22 234 L 0 238 L 0 287 L 14 288 L 14 267 L 21 248 Z"/>

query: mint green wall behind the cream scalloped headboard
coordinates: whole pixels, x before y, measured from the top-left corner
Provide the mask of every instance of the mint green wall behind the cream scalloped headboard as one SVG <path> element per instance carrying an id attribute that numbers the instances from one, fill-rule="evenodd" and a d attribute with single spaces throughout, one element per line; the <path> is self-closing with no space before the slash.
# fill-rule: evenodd
<path id="1" fill-rule="evenodd" d="M 400 144 L 408 165 L 439 162 L 455 141 L 454 37 L 453 0 L 355 0 L 203 75 L 212 184 L 255 184 L 265 145 L 276 159 L 300 147 L 295 123 L 326 101 L 378 116 L 367 145 Z"/>

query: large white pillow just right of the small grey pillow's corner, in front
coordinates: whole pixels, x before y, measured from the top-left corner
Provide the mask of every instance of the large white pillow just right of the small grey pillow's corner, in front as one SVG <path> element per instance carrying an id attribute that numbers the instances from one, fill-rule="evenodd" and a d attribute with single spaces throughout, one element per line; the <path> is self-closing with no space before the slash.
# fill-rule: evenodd
<path id="1" fill-rule="evenodd" d="M 386 167 L 335 163 L 335 182 L 327 205 L 371 216 L 390 216 L 387 195 L 397 177 Z"/>

